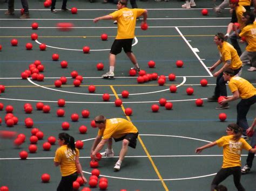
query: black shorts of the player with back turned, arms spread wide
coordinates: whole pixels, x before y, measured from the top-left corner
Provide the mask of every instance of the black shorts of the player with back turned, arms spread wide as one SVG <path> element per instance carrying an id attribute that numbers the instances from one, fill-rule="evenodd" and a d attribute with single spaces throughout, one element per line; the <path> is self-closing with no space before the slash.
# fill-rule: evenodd
<path id="1" fill-rule="evenodd" d="M 124 52 L 132 52 L 132 38 L 131 39 L 116 39 L 114 40 L 110 53 L 117 55 L 122 52 L 122 48 L 124 48 Z"/>

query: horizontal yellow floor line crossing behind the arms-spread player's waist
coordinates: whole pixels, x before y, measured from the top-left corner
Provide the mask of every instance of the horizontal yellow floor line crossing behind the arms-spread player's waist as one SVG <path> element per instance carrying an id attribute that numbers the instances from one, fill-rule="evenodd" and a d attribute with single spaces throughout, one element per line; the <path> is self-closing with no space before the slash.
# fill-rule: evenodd
<path id="1" fill-rule="evenodd" d="M 214 34 L 191 34 L 184 37 L 213 37 Z M 109 36 L 116 37 L 116 36 Z M 181 37 L 180 35 L 139 35 L 136 37 Z M 30 36 L 0 36 L 0 38 L 31 38 Z M 38 36 L 38 38 L 100 38 L 100 36 Z"/>

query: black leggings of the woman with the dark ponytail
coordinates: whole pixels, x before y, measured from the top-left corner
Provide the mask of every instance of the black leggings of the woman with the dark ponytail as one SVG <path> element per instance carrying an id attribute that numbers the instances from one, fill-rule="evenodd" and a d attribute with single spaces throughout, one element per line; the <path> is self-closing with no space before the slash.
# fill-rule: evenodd
<path id="1" fill-rule="evenodd" d="M 68 176 L 62 176 L 62 180 L 59 182 L 59 186 L 57 191 L 72 191 L 73 190 L 73 182 L 77 180 L 78 173 L 75 172 Z"/>

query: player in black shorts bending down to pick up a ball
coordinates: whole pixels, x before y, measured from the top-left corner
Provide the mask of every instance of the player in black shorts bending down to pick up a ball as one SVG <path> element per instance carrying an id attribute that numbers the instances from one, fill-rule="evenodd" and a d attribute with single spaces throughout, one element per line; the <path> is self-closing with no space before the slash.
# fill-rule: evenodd
<path id="1" fill-rule="evenodd" d="M 115 142 L 123 140 L 119 160 L 116 162 L 116 165 L 114 165 L 114 169 L 119 171 L 122 161 L 127 153 L 128 146 L 136 148 L 137 137 L 139 135 L 136 126 L 123 118 L 106 119 L 102 115 L 95 117 L 95 124 L 97 128 L 99 128 L 99 131 L 91 148 L 92 159 L 97 160 L 96 154 L 102 150 L 106 143 L 107 149 L 100 154 L 102 154 L 103 157 L 113 157 L 112 138 Z"/>

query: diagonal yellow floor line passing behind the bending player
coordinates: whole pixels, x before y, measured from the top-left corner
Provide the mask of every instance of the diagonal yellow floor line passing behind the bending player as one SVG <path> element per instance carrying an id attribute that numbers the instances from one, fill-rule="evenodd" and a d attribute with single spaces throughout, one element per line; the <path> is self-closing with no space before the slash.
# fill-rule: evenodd
<path id="1" fill-rule="evenodd" d="M 113 91 L 113 93 L 114 93 L 114 96 L 118 99 L 119 97 L 118 97 L 118 95 L 117 95 L 117 93 L 116 93 L 116 90 L 114 90 L 113 86 L 110 86 L 110 88 L 112 89 L 112 91 Z M 125 109 L 124 109 L 123 104 L 121 105 L 121 108 L 122 108 L 122 110 L 123 110 L 123 112 L 124 112 Z M 131 121 L 131 119 L 130 119 L 129 116 L 126 116 L 126 118 L 127 118 L 129 121 Z M 154 164 L 154 161 L 153 161 L 153 159 L 151 158 L 151 155 L 150 155 L 149 151 L 147 151 L 146 146 L 144 145 L 142 139 L 140 138 L 140 136 L 138 136 L 138 140 L 139 140 L 140 144 L 142 145 L 143 150 L 145 151 L 147 157 L 149 158 L 149 160 L 150 160 L 150 162 L 151 162 L 151 165 L 152 165 L 153 168 L 154 168 L 154 171 L 157 173 L 158 178 L 160 179 L 160 181 L 161 181 L 163 187 L 165 188 L 166 191 L 169 190 L 169 189 L 167 188 L 167 186 L 166 186 L 166 184 L 165 184 L 165 182 L 164 182 L 162 176 L 160 175 L 160 173 L 159 173 L 159 171 L 158 171 L 158 169 L 157 169 L 157 166 Z"/>

